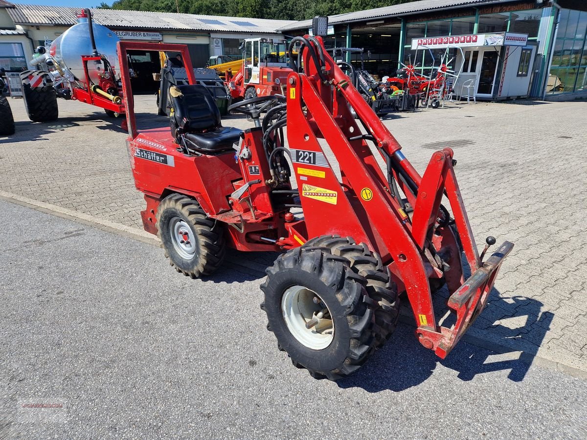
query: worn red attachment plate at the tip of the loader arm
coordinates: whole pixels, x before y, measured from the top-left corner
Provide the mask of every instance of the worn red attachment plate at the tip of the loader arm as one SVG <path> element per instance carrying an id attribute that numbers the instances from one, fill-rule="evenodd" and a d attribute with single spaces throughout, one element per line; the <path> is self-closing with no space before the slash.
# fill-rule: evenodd
<path id="1" fill-rule="evenodd" d="M 440 327 L 440 333 L 431 327 L 420 326 L 416 330 L 420 343 L 431 348 L 440 358 L 445 358 L 461 339 L 468 327 L 485 308 L 504 258 L 514 248 L 514 243 L 504 242 L 492 255 L 475 270 L 465 283 L 448 298 L 447 305 L 456 312 L 454 327 Z"/>

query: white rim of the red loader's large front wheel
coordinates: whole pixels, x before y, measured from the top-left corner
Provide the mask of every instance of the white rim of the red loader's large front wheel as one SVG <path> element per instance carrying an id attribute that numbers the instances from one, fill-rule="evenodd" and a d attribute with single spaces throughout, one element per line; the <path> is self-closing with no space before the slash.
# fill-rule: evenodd
<path id="1" fill-rule="evenodd" d="M 318 298 L 316 304 L 313 298 Z M 306 323 L 321 311 L 326 309 L 325 317 L 319 324 L 306 329 Z M 312 350 L 323 350 L 334 339 L 334 322 L 330 317 L 330 310 L 313 290 L 304 286 L 292 286 L 284 292 L 281 298 L 281 313 L 289 333 L 303 346 Z"/>

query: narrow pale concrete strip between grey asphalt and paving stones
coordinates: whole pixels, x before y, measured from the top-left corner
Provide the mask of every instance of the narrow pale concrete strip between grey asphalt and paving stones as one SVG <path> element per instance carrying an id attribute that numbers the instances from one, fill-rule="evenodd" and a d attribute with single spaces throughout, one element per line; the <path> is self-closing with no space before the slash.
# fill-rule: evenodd
<path id="1" fill-rule="evenodd" d="M 45 202 L 39 202 L 28 197 L 11 194 L 1 190 L 0 199 L 27 208 L 36 209 L 36 211 L 45 212 L 46 214 L 56 215 L 61 218 L 80 222 L 88 226 L 93 226 L 95 228 L 101 229 L 102 231 L 117 233 L 118 235 L 138 240 L 143 243 L 148 243 L 155 246 L 161 245 L 161 242 L 156 236 L 146 231 L 131 228 L 130 226 L 121 225 L 119 223 L 111 222 L 109 220 L 101 219 L 92 215 L 83 214 L 82 212 L 72 211 L 71 209 L 58 207 L 56 205 L 51 205 Z M 409 326 L 414 325 L 413 317 L 411 314 L 406 312 L 406 309 L 403 309 L 403 311 L 400 312 L 399 321 Z M 508 354 L 508 357 L 511 359 L 519 359 L 520 361 L 530 365 L 539 365 L 540 367 L 548 368 L 549 370 L 561 371 L 562 373 L 569 374 L 573 377 L 587 380 L 587 371 L 584 371 L 581 368 L 573 367 L 572 365 L 556 362 L 535 354 L 527 353 L 525 351 L 512 350 L 509 347 L 505 347 L 470 334 L 464 334 L 462 340 L 475 347 L 493 351 L 496 354 Z"/>

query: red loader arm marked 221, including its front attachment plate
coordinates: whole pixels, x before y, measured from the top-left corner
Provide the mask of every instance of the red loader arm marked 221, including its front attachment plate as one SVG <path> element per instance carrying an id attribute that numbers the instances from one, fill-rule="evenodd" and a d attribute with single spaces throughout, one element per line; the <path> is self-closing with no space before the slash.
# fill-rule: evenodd
<path id="1" fill-rule="evenodd" d="M 407 293 L 420 343 L 445 357 L 485 307 L 513 245 L 505 242 L 482 263 L 454 174 L 453 151 L 436 151 L 420 176 L 396 138 L 328 55 L 322 39 L 296 40 L 301 42 L 303 67 L 296 66 L 288 76 L 288 126 L 296 129 L 288 130 L 287 136 L 308 236 L 349 235 L 379 253 Z M 366 135 L 351 116 L 349 104 Z M 326 140 L 336 158 L 342 182 L 326 160 L 328 151 L 319 138 Z M 375 143 L 386 162 L 387 176 L 367 140 Z M 408 205 L 395 184 L 413 207 L 413 215 L 406 214 Z M 460 264 L 447 264 L 448 259 L 460 263 L 461 249 L 448 225 L 450 219 L 439 221 L 445 196 L 471 268 L 466 281 Z M 444 240 L 439 241 L 439 236 Z M 444 277 L 450 280 L 448 306 L 457 315 L 451 329 L 438 325 L 432 302 L 431 280 Z"/>

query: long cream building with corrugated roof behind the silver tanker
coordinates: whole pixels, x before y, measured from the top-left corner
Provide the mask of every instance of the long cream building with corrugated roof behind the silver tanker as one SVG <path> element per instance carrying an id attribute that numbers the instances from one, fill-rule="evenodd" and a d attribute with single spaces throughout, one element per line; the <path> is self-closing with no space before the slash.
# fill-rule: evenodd
<path id="1" fill-rule="evenodd" d="M 239 56 L 245 38 L 282 38 L 291 21 L 193 15 L 188 13 L 90 9 L 93 20 L 120 39 L 188 45 L 195 67 L 212 55 Z M 33 50 L 75 25 L 80 8 L 20 5 L 0 0 L 0 67 L 18 72 L 32 59 Z"/>

